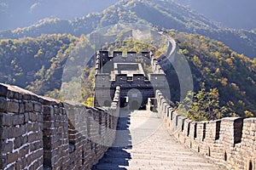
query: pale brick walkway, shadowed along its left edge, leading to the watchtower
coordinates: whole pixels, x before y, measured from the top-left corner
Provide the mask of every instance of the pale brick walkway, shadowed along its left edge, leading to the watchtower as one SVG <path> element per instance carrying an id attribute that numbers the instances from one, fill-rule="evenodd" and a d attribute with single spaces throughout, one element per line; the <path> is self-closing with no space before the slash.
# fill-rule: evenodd
<path id="1" fill-rule="evenodd" d="M 117 139 L 93 169 L 221 169 L 178 144 L 160 118 L 148 111 L 122 111 Z"/>

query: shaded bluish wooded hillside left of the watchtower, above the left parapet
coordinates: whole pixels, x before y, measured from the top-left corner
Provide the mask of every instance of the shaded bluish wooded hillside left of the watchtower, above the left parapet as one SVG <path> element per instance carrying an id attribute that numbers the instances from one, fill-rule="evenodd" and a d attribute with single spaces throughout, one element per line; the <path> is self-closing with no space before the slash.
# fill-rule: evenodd
<path id="1" fill-rule="evenodd" d="M 0 82 L 16 84 L 37 94 L 61 88 L 67 55 L 79 38 L 45 35 L 0 41 Z"/>

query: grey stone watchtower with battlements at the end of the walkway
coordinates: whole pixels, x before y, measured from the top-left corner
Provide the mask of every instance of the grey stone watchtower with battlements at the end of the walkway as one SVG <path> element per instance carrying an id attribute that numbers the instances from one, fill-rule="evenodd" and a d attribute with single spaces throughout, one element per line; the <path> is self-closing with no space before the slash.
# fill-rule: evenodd
<path id="1" fill-rule="evenodd" d="M 154 98 L 156 89 L 166 89 L 164 72 L 155 72 L 149 52 L 108 51 L 96 53 L 96 80 L 94 106 L 109 106 L 116 87 L 120 87 L 120 106 L 131 110 L 146 107 L 148 98 Z M 153 69 L 154 68 L 154 69 Z"/>

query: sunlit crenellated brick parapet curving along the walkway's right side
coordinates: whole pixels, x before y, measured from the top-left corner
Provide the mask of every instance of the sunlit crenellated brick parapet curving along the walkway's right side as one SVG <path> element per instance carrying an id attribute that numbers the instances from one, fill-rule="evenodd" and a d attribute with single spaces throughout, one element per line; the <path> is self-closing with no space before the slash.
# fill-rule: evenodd
<path id="1" fill-rule="evenodd" d="M 155 98 L 159 116 L 180 143 L 228 169 L 256 169 L 256 118 L 194 122 L 174 111 L 160 90 Z"/>

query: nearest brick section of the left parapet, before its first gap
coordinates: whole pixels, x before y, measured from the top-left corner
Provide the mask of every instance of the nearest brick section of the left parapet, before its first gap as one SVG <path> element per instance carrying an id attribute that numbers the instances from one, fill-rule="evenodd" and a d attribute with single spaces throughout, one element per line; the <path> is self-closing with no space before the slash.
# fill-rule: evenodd
<path id="1" fill-rule="evenodd" d="M 0 85 L 0 169 L 43 169 L 44 99 Z"/>

